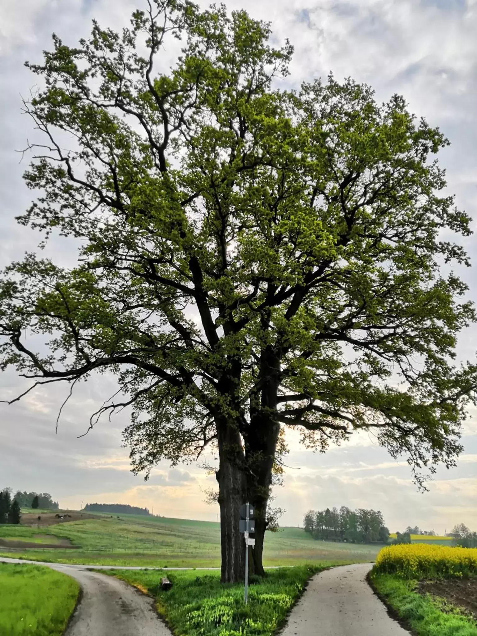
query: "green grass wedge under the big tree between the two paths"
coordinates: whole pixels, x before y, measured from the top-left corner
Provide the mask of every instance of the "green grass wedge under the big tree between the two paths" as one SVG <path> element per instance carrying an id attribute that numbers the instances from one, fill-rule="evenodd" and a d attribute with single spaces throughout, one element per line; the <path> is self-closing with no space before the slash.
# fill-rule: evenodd
<path id="1" fill-rule="evenodd" d="M 160 588 L 164 572 L 111 570 L 127 583 L 153 596 L 158 612 L 177 636 L 271 636 L 282 626 L 312 574 L 333 565 L 290 567 L 252 580 L 249 602 L 243 584 L 221 585 L 219 572 L 167 572 L 173 583 Z"/>

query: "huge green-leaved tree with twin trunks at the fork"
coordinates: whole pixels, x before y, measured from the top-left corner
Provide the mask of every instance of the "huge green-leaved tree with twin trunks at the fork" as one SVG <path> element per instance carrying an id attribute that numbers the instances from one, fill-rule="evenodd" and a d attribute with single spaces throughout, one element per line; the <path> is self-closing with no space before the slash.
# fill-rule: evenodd
<path id="1" fill-rule="evenodd" d="M 27 64 L 44 141 L 19 221 L 75 237 L 78 264 L 28 254 L 0 287 L 3 368 L 70 391 L 116 374 L 125 397 L 90 421 L 132 407 L 135 471 L 217 449 L 223 581 L 244 576 L 247 499 L 263 572 L 284 430 L 323 451 L 373 427 L 422 483 L 455 462 L 476 375 L 452 366 L 466 286 L 439 273 L 467 263 L 449 235 L 470 233 L 429 160 L 445 137 L 350 79 L 280 89 L 292 48 L 269 36 L 244 11 L 176 0 L 120 34 L 93 22 L 76 48 L 53 36 Z"/>

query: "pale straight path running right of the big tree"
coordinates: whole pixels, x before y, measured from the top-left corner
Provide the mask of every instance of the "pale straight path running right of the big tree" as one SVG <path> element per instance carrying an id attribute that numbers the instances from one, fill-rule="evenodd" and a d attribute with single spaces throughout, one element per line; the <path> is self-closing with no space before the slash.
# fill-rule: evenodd
<path id="1" fill-rule="evenodd" d="M 342 565 L 316 574 L 280 636 L 409 636 L 366 583 L 371 567 Z"/>

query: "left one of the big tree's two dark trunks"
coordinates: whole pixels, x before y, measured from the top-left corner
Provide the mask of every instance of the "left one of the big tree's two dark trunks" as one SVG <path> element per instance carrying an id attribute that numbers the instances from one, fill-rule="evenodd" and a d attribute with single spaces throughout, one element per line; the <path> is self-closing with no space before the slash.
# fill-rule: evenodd
<path id="1" fill-rule="evenodd" d="M 221 582 L 237 583 L 245 578 L 245 543 L 240 534 L 240 506 L 247 498 L 245 455 L 235 422 L 217 422 L 219 446 Z"/>

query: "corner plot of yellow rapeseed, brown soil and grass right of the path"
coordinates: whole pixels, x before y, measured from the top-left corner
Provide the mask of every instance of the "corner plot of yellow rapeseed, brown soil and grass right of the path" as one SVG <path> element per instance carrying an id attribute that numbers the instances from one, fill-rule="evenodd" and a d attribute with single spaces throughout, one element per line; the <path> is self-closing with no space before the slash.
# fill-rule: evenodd
<path id="1" fill-rule="evenodd" d="M 477 636 L 477 549 L 389 546 L 370 582 L 417 636 Z"/>

